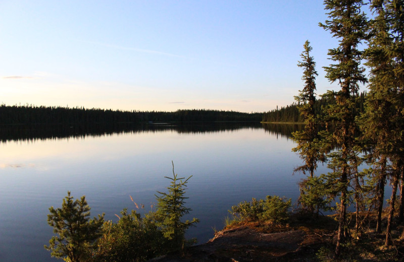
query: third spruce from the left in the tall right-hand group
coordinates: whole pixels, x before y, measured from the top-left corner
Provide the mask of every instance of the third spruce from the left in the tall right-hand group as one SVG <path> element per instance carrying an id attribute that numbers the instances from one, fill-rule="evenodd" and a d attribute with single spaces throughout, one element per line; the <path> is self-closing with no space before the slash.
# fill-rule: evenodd
<path id="1" fill-rule="evenodd" d="M 366 147 L 367 162 L 373 167 L 373 194 L 377 210 L 376 232 L 381 232 L 384 188 L 388 175 L 389 143 L 393 139 L 391 87 L 394 86 L 394 62 L 390 55 L 392 37 L 387 21 L 384 1 L 372 1 L 371 10 L 375 18 L 371 22 L 368 48 L 365 50 L 366 64 L 371 69 L 366 110 L 361 117 L 362 139 Z M 394 96 L 394 95 L 393 95 Z"/>

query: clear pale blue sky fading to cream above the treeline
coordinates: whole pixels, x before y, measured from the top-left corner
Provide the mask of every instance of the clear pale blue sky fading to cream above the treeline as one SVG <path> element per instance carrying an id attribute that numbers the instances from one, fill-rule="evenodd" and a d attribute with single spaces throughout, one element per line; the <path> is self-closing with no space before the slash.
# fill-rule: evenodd
<path id="1" fill-rule="evenodd" d="M 265 112 L 317 94 L 337 39 L 322 1 L 0 0 L 0 103 L 120 110 Z"/>

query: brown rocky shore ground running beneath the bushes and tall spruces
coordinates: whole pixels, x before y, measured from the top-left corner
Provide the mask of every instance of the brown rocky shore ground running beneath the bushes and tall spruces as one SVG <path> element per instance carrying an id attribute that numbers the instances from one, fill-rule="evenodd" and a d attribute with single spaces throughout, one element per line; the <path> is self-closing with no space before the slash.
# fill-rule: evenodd
<path id="1" fill-rule="evenodd" d="M 168 254 L 151 261 L 334 261 L 333 241 L 337 224 L 332 217 L 313 220 L 295 216 L 289 222 L 287 225 L 269 222 L 234 225 L 217 232 L 205 244 L 187 248 L 184 256 Z M 392 232 L 395 241 L 388 248 L 383 246 L 385 235 L 376 234 L 371 228 L 352 237 L 335 261 L 404 261 L 404 235 L 400 237 L 402 226 Z"/>

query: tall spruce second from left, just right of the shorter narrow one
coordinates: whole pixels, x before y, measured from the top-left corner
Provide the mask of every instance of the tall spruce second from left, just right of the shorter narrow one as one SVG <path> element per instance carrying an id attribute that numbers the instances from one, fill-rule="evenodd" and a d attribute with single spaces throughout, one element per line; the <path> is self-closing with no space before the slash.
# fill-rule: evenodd
<path id="1" fill-rule="evenodd" d="M 335 61 L 325 67 L 326 77 L 330 82 L 337 82 L 340 90 L 335 93 L 336 105 L 329 106 L 327 118 L 332 132 L 327 141 L 335 146 L 335 151 L 329 154 L 330 173 L 335 179 L 336 191 L 340 195 L 338 233 L 335 255 L 341 251 L 341 243 L 348 237 L 346 223 L 346 208 L 348 204 L 348 186 L 351 174 L 356 170 L 355 133 L 355 96 L 359 91 L 359 83 L 365 83 L 364 69 L 360 66 L 362 51 L 358 45 L 366 38 L 368 25 L 366 16 L 361 12 L 363 2 L 360 0 L 324 1 L 325 9 L 329 12 L 325 24 L 320 26 L 330 31 L 333 37 L 339 39 L 337 48 L 329 49 L 330 59 Z M 329 145 L 328 145 L 329 146 Z"/>

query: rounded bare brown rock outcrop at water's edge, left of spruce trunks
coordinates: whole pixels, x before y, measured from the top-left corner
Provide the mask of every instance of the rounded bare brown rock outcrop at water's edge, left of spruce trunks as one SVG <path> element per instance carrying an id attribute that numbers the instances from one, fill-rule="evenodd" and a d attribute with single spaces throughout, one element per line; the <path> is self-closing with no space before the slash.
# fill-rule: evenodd
<path id="1" fill-rule="evenodd" d="M 205 244 L 190 247 L 184 257 L 168 255 L 154 261 L 307 261 L 330 238 L 325 233 L 329 232 L 307 226 L 243 223 L 217 232 Z"/>

